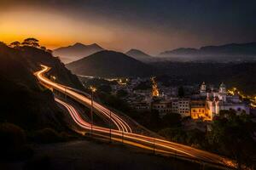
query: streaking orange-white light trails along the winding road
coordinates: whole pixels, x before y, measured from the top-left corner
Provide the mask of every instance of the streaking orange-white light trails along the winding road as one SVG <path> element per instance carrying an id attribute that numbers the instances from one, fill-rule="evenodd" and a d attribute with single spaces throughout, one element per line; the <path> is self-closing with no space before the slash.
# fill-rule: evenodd
<path id="1" fill-rule="evenodd" d="M 48 78 L 44 77 L 44 73 L 49 71 L 49 67 L 45 65 L 42 65 L 42 67 L 43 70 L 36 72 L 35 76 L 38 77 L 38 80 L 40 82 L 43 82 L 44 86 L 46 86 L 47 88 L 55 88 L 61 93 L 68 94 L 69 97 L 79 101 L 79 103 L 85 103 L 86 105 L 90 105 L 90 99 L 74 92 L 71 89 L 63 87 L 62 85 L 51 82 Z M 55 100 L 67 108 L 67 111 L 72 116 L 73 121 L 76 122 L 79 127 L 82 127 L 84 130 L 90 133 L 91 124 L 89 122 L 85 122 L 79 115 L 79 112 L 76 111 L 72 105 L 61 101 L 60 99 Z M 106 107 L 96 103 L 95 109 L 97 111 L 100 111 L 104 116 L 110 118 L 110 111 Z M 123 141 L 125 144 L 135 145 L 145 150 L 155 150 L 161 153 L 168 153 L 172 155 L 176 154 L 177 156 L 183 156 L 191 160 L 204 161 L 212 165 L 236 168 L 236 162 L 225 158 L 224 156 L 218 156 L 205 150 L 198 150 L 187 145 L 177 144 L 164 139 L 157 139 L 137 133 L 132 133 L 131 127 L 129 127 L 129 125 L 124 120 L 122 120 L 113 112 L 111 116 L 111 121 L 118 127 L 118 130 L 111 130 L 111 135 L 113 135 L 113 139 L 116 141 Z M 110 129 L 94 125 L 93 133 L 96 133 L 96 135 L 104 136 L 105 138 L 109 138 Z"/>

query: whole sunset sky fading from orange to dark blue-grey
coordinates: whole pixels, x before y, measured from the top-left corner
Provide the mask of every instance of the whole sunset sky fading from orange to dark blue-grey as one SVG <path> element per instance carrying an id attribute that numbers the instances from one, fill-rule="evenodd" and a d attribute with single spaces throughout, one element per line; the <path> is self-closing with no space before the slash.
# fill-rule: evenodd
<path id="1" fill-rule="evenodd" d="M 36 37 L 48 48 L 83 42 L 158 54 L 256 41 L 256 1 L 0 0 L 0 41 Z"/>

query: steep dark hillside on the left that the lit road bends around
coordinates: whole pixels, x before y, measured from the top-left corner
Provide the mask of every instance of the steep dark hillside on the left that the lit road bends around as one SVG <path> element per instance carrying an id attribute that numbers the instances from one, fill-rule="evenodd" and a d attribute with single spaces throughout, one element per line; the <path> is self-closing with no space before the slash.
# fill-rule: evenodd
<path id="1" fill-rule="evenodd" d="M 9 48 L 0 42 L 0 122 L 11 122 L 32 131 L 61 126 L 61 112 L 53 94 L 38 84 L 33 73 L 40 64 L 53 68 L 57 81 L 81 88 L 78 78 L 59 59 L 38 48 Z"/>

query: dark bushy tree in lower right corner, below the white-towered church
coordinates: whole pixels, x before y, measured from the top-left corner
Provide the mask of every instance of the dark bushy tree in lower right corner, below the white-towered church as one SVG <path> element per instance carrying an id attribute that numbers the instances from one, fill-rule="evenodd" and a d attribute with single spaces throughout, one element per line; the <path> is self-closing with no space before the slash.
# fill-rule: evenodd
<path id="1" fill-rule="evenodd" d="M 212 131 L 208 133 L 209 144 L 220 153 L 231 156 L 241 165 L 252 166 L 255 156 L 255 122 L 252 117 L 241 114 L 234 115 L 231 111 L 227 116 L 218 116 L 212 123 Z"/>

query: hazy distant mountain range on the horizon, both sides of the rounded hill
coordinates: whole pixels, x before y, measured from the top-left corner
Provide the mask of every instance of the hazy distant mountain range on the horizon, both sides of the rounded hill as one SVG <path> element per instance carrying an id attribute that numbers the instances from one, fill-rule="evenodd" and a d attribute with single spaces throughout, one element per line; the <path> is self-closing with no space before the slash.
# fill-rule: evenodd
<path id="1" fill-rule="evenodd" d="M 102 51 L 104 48 L 96 43 L 84 45 L 75 43 L 71 46 L 56 48 L 53 51 L 65 64 L 82 59 L 90 54 Z M 158 56 L 151 56 L 139 49 L 132 48 L 126 55 L 140 60 L 144 63 L 175 61 L 175 62 L 244 62 L 256 60 L 256 42 L 230 43 L 219 46 L 205 46 L 201 48 L 176 48 L 160 53 Z"/>

